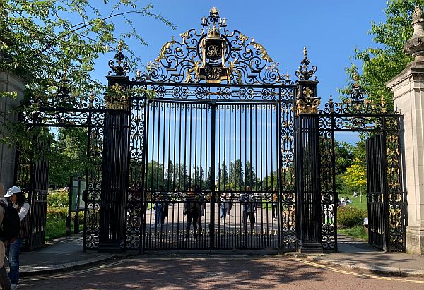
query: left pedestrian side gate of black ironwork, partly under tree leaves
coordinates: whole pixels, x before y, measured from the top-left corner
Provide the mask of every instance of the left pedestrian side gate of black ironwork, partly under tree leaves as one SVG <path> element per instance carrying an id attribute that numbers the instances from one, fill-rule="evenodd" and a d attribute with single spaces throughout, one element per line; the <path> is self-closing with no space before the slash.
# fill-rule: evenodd
<path id="1" fill-rule="evenodd" d="M 64 78 L 62 81 L 66 81 Z M 72 97 L 59 82 L 54 99 L 38 99 L 37 111 L 20 116 L 20 121 L 33 133 L 30 151 L 16 150 L 15 183 L 28 192 L 31 234 L 26 248 L 45 244 L 47 188 L 49 172 L 49 140 L 40 131 L 49 127 L 79 127 L 87 130 L 87 193 L 83 249 L 98 248 L 99 207 L 101 189 L 102 132 L 105 107 L 94 95 Z M 44 134 L 46 135 L 46 134 Z"/>

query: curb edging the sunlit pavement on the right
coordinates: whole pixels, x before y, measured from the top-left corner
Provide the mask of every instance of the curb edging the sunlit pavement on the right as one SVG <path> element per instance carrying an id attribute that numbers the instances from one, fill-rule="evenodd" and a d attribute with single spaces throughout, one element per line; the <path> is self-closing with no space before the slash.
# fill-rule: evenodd
<path id="1" fill-rule="evenodd" d="M 401 269 L 398 267 L 374 266 L 365 263 L 341 263 L 331 260 L 325 260 L 316 256 L 309 256 L 307 260 L 317 262 L 322 265 L 338 267 L 341 270 L 349 270 L 360 274 L 387 274 L 389 276 L 399 277 L 424 277 L 424 270 Z"/>

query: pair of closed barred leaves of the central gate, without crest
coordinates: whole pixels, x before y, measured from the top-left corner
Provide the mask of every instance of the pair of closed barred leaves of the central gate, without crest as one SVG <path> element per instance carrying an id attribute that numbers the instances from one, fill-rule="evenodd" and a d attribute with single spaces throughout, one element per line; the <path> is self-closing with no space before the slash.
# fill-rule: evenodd
<path id="1" fill-rule="evenodd" d="M 293 114 L 280 112 L 277 100 L 148 102 L 143 249 L 294 250 L 294 193 L 278 179 Z"/>

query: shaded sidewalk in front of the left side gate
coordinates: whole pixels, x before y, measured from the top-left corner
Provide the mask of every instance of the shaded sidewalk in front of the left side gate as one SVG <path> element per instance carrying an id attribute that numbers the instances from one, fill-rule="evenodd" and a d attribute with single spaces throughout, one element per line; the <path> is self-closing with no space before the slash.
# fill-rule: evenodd
<path id="1" fill-rule="evenodd" d="M 32 252 L 20 252 L 20 275 L 26 277 L 73 270 L 112 258 L 113 255 L 99 254 L 96 251 L 83 253 L 83 234 L 74 234 L 58 238 Z"/>

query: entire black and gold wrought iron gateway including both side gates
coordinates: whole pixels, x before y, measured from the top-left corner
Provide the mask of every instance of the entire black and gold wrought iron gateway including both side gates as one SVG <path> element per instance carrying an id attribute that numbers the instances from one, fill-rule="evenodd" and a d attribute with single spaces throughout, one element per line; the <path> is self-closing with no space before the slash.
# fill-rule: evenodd
<path id="1" fill-rule="evenodd" d="M 131 80 L 120 46 L 104 98 L 59 85 L 23 116 L 31 128 L 87 128 L 83 249 L 336 251 L 334 133 L 360 131 L 384 136 L 386 249 L 405 250 L 401 115 L 364 99 L 357 83 L 319 110 L 306 49 L 293 83 L 216 8 L 201 24 Z M 43 210 L 47 163 L 30 175 L 22 157 L 16 181 Z M 32 226 L 42 243 L 42 224 Z"/>

